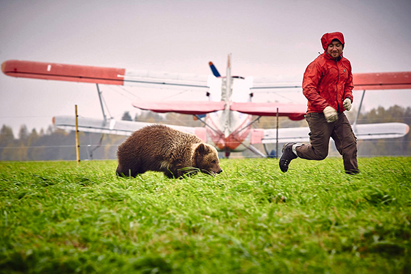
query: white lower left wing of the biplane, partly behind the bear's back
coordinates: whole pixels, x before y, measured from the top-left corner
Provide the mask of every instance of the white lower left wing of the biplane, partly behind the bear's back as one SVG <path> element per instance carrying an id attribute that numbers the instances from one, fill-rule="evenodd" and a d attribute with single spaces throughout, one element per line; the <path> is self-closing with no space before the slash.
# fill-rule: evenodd
<path id="1" fill-rule="evenodd" d="M 73 116 L 55 116 L 53 117 L 55 127 L 65 130 L 75 130 L 75 117 Z M 99 134 L 116 134 L 129 136 L 136 130 L 153 125 L 153 123 L 143 123 L 134 121 L 115 121 L 114 119 L 105 121 L 103 119 L 93 119 L 78 117 L 78 129 L 80 132 L 94 132 Z M 181 132 L 195 134 L 201 140 L 206 142 L 206 129 L 204 127 L 184 127 L 180 125 L 168 125 L 173 129 Z"/>

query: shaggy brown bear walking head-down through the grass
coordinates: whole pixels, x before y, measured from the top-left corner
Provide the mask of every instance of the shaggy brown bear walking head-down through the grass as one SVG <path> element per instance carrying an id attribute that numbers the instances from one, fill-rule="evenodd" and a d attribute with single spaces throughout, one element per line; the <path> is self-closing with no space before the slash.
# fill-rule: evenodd
<path id="1" fill-rule="evenodd" d="M 159 124 L 143 127 L 129 136 L 119 146 L 117 158 L 116 174 L 126 177 L 146 171 L 162 171 L 170 178 L 197 171 L 210 175 L 222 172 L 214 147 L 194 134 Z"/>

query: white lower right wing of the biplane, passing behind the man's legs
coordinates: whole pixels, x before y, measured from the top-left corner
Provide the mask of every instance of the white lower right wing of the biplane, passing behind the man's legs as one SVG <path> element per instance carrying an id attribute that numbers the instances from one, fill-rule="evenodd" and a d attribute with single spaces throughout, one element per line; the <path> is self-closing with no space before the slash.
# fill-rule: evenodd
<path id="1" fill-rule="evenodd" d="M 375 123 L 362 124 L 353 127 L 359 140 L 399 138 L 410 131 L 405 123 Z M 278 142 L 308 142 L 310 140 L 308 127 L 291 127 L 278 129 Z M 277 142 L 277 129 L 253 129 L 251 144 L 268 144 Z"/>

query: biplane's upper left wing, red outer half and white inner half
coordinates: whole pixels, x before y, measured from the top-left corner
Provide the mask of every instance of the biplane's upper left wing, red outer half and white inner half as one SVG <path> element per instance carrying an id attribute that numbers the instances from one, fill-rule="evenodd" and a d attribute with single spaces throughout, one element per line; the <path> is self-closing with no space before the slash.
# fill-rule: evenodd
<path id="1" fill-rule="evenodd" d="M 69 82 L 86 82 L 135 86 L 138 84 L 157 84 L 208 88 L 208 75 L 190 73 L 165 73 L 155 71 L 133 71 L 127 69 L 105 68 L 99 66 L 79 66 L 8 60 L 1 64 L 1 71 L 12 77 L 47 79 Z"/>

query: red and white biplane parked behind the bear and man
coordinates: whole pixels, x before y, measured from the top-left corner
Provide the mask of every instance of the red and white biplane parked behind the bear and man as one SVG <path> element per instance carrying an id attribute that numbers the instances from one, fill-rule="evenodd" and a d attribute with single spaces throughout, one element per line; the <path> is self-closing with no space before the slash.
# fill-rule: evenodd
<path id="1" fill-rule="evenodd" d="M 253 121 L 252 115 L 288 116 L 295 121 L 303 119 L 304 114 L 306 114 L 306 105 L 251 102 L 253 92 L 259 89 L 301 88 L 301 86 L 279 86 L 271 84 L 272 81 L 267 82 L 266 78 L 232 76 L 230 55 L 228 56 L 225 77 L 221 77 L 211 62 L 210 68 L 213 75 L 129 71 L 96 66 L 18 60 L 8 60 L 1 65 L 1 71 L 12 77 L 95 83 L 100 102 L 99 84 L 121 86 L 141 86 L 142 84 L 147 86 L 149 84 L 202 88 L 208 96 L 208 101 L 136 101 L 133 105 L 136 108 L 153 112 L 177 112 L 197 116 L 205 127 L 170 126 L 182 132 L 197 135 L 205 142 L 214 145 L 219 151 L 224 151 L 226 157 L 231 151 L 245 149 L 250 149 L 254 153 L 266 157 L 266 154 L 253 147 L 255 144 L 308 142 L 308 133 L 310 132 L 308 127 L 284 129 L 254 129 L 251 127 L 253 122 L 257 120 Z M 365 90 L 411 88 L 411 72 L 358 73 L 354 74 L 353 78 L 355 89 L 364 90 L 362 99 L 364 99 Z M 128 136 L 137 129 L 149 125 L 149 123 L 108 119 L 105 116 L 102 103 L 101 110 L 103 111 L 103 119 L 79 117 L 79 130 Z M 58 128 L 75 130 L 75 117 L 73 116 L 55 116 L 53 121 Z M 356 121 L 353 123 L 353 130 L 358 139 L 397 138 L 406 135 L 409 131 L 408 125 L 404 123 L 357 125 Z"/>

